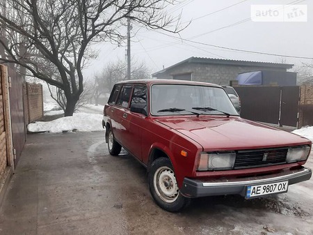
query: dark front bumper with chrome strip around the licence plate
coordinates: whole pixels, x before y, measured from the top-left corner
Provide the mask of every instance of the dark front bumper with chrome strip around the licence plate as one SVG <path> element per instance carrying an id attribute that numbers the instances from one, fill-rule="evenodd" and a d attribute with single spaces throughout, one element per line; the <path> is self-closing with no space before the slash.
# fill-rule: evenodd
<path id="1" fill-rule="evenodd" d="M 307 181 L 311 176 L 312 170 L 302 167 L 278 174 L 241 179 L 214 179 L 212 181 L 202 181 L 199 179 L 185 178 L 180 191 L 185 197 L 206 197 L 214 195 L 241 195 L 244 197 L 246 188 L 249 185 L 262 185 L 282 181 L 288 181 L 288 184 L 291 185 L 301 181 Z"/>

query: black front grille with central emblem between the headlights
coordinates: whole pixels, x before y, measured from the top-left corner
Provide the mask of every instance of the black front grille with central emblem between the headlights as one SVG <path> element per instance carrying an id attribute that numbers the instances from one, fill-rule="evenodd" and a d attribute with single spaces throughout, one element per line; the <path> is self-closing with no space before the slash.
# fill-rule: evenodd
<path id="1" fill-rule="evenodd" d="M 286 163 L 288 148 L 237 151 L 234 169 Z"/>

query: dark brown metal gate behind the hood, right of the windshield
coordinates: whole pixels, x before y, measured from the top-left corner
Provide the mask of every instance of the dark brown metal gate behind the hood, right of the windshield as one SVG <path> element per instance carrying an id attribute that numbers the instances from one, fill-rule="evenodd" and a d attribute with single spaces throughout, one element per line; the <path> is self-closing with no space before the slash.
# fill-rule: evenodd
<path id="1" fill-rule="evenodd" d="M 297 126 L 299 86 L 234 86 L 241 99 L 241 117 Z"/>

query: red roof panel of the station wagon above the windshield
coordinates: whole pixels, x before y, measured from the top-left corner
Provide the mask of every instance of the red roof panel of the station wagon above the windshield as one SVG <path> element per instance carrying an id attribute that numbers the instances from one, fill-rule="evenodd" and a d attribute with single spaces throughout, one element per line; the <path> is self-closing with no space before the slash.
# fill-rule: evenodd
<path id="1" fill-rule="evenodd" d="M 195 81 L 186 81 L 186 80 L 177 80 L 177 79 L 134 79 L 118 82 L 117 84 L 187 84 L 187 85 L 202 85 L 202 86 L 216 86 L 221 87 L 218 84 L 213 84 L 209 82 L 195 82 Z"/>

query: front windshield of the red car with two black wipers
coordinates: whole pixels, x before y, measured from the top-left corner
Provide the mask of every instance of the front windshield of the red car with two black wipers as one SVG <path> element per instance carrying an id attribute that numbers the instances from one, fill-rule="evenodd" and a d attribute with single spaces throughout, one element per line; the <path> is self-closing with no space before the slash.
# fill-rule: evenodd
<path id="1" fill-rule="evenodd" d="M 214 114 L 235 115 L 227 93 L 215 86 L 154 84 L 151 88 L 152 115 Z"/>

